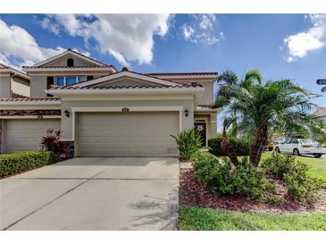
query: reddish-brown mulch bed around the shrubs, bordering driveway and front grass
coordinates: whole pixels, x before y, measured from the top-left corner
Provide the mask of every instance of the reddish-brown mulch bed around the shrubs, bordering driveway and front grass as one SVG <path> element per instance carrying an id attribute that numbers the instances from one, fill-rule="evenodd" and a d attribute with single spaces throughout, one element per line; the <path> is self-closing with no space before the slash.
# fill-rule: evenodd
<path id="1" fill-rule="evenodd" d="M 255 213 L 290 214 L 326 212 L 326 190 L 321 190 L 321 199 L 314 203 L 299 203 L 288 199 L 287 190 L 282 182 L 274 182 L 277 186 L 276 195 L 287 201 L 279 206 L 252 201 L 244 197 L 215 197 L 195 177 L 192 169 L 180 169 L 180 205 L 188 207 L 210 207 Z"/>

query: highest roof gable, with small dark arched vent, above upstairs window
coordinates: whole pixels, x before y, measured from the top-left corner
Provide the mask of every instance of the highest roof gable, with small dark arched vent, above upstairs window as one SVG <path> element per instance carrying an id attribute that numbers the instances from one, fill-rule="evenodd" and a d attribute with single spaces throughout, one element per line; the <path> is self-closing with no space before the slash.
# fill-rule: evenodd
<path id="1" fill-rule="evenodd" d="M 71 49 L 68 49 L 64 51 L 63 53 L 59 55 L 54 55 L 51 58 L 46 59 L 43 62 L 36 63 L 32 66 L 25 66 L 25 67 L 63 67 L 66 66 L 66 59 L 69 57 L 76 59 L 77 63 L 79 65 L 74 66 L 89 66 L 89 67 L 110 67 L 111 65 L 107 65 L 105 63 L 101 63 L 96 61 L 93 58 L 90 58 L 86 55 L 82 55 L 76 51 L 72 51 Z"/>

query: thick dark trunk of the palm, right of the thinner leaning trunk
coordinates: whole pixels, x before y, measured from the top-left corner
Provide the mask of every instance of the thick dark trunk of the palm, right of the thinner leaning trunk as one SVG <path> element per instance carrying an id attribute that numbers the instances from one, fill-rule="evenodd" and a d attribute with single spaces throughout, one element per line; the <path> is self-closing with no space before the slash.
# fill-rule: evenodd
<path id="1" fill-rule="evenodd" d="M 267 127 L 258 127 L 255 131 L 255 139 L 254 142 L 250 145 L 250 162 L 254 166 L 259 165 L 259 161 L 262 157 L 263 147 L 266 145 L 267 142 Z"/>

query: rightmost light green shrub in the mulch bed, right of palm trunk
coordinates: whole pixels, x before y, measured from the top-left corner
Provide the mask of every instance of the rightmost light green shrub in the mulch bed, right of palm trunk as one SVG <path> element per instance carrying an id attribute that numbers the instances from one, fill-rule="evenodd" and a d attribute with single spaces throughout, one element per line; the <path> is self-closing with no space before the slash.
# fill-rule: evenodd
<path id="1" fill-rule="evenodd" d="M 318 199 L 318 190 L 324 182 L 308 175 L 309 166 L 297 161 L 294 156 L 273 153 L 263 160 L 261 167 L 276 178 L 283 180 L 288 188 L 288 196 L 298 201 Z"/>

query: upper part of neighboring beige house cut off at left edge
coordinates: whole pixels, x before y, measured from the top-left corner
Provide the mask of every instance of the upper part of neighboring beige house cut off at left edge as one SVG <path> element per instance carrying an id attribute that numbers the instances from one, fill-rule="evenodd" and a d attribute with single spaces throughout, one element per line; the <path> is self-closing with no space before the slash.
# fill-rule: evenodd
<path id="1" fill-rule="evenodd" d="M 29 97 L 29 75 L 0 63 L 0 97 Z"/>

